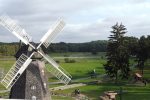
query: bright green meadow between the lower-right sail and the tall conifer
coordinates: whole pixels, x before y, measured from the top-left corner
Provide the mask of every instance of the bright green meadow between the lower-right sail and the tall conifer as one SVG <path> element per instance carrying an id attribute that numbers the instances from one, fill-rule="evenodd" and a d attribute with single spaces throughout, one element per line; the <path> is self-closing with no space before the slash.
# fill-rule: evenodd
<path id="1" fill-rule="evenodd" d="M 75 59 L 76 60 L 76 59 Z M 73 79 L 87 77 L 89 72 L 92 72 L 94 69 L 97 74 L 103 74 L 103 64 L 105 60 L 99 59 L 77 59 L 76 63 L 61 63 L 60 65 L 68 71 Z"/>

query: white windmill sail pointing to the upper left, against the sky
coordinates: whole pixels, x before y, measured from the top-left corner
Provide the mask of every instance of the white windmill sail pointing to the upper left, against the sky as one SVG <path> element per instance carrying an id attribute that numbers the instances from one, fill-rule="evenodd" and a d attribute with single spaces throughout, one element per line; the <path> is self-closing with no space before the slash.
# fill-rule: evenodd
<path id="1" fill-rule="evenodd" d="M 17 38 L 23 41 L 26 45 L 31 40 L 31 37 L 25 32 L 25 30 L 22 29 L 19 25 L 17 25 L 16 22 L 12 20 L 9 16 L 0 16 L 0 23 L 7 30 L 12 32 Z"/>

